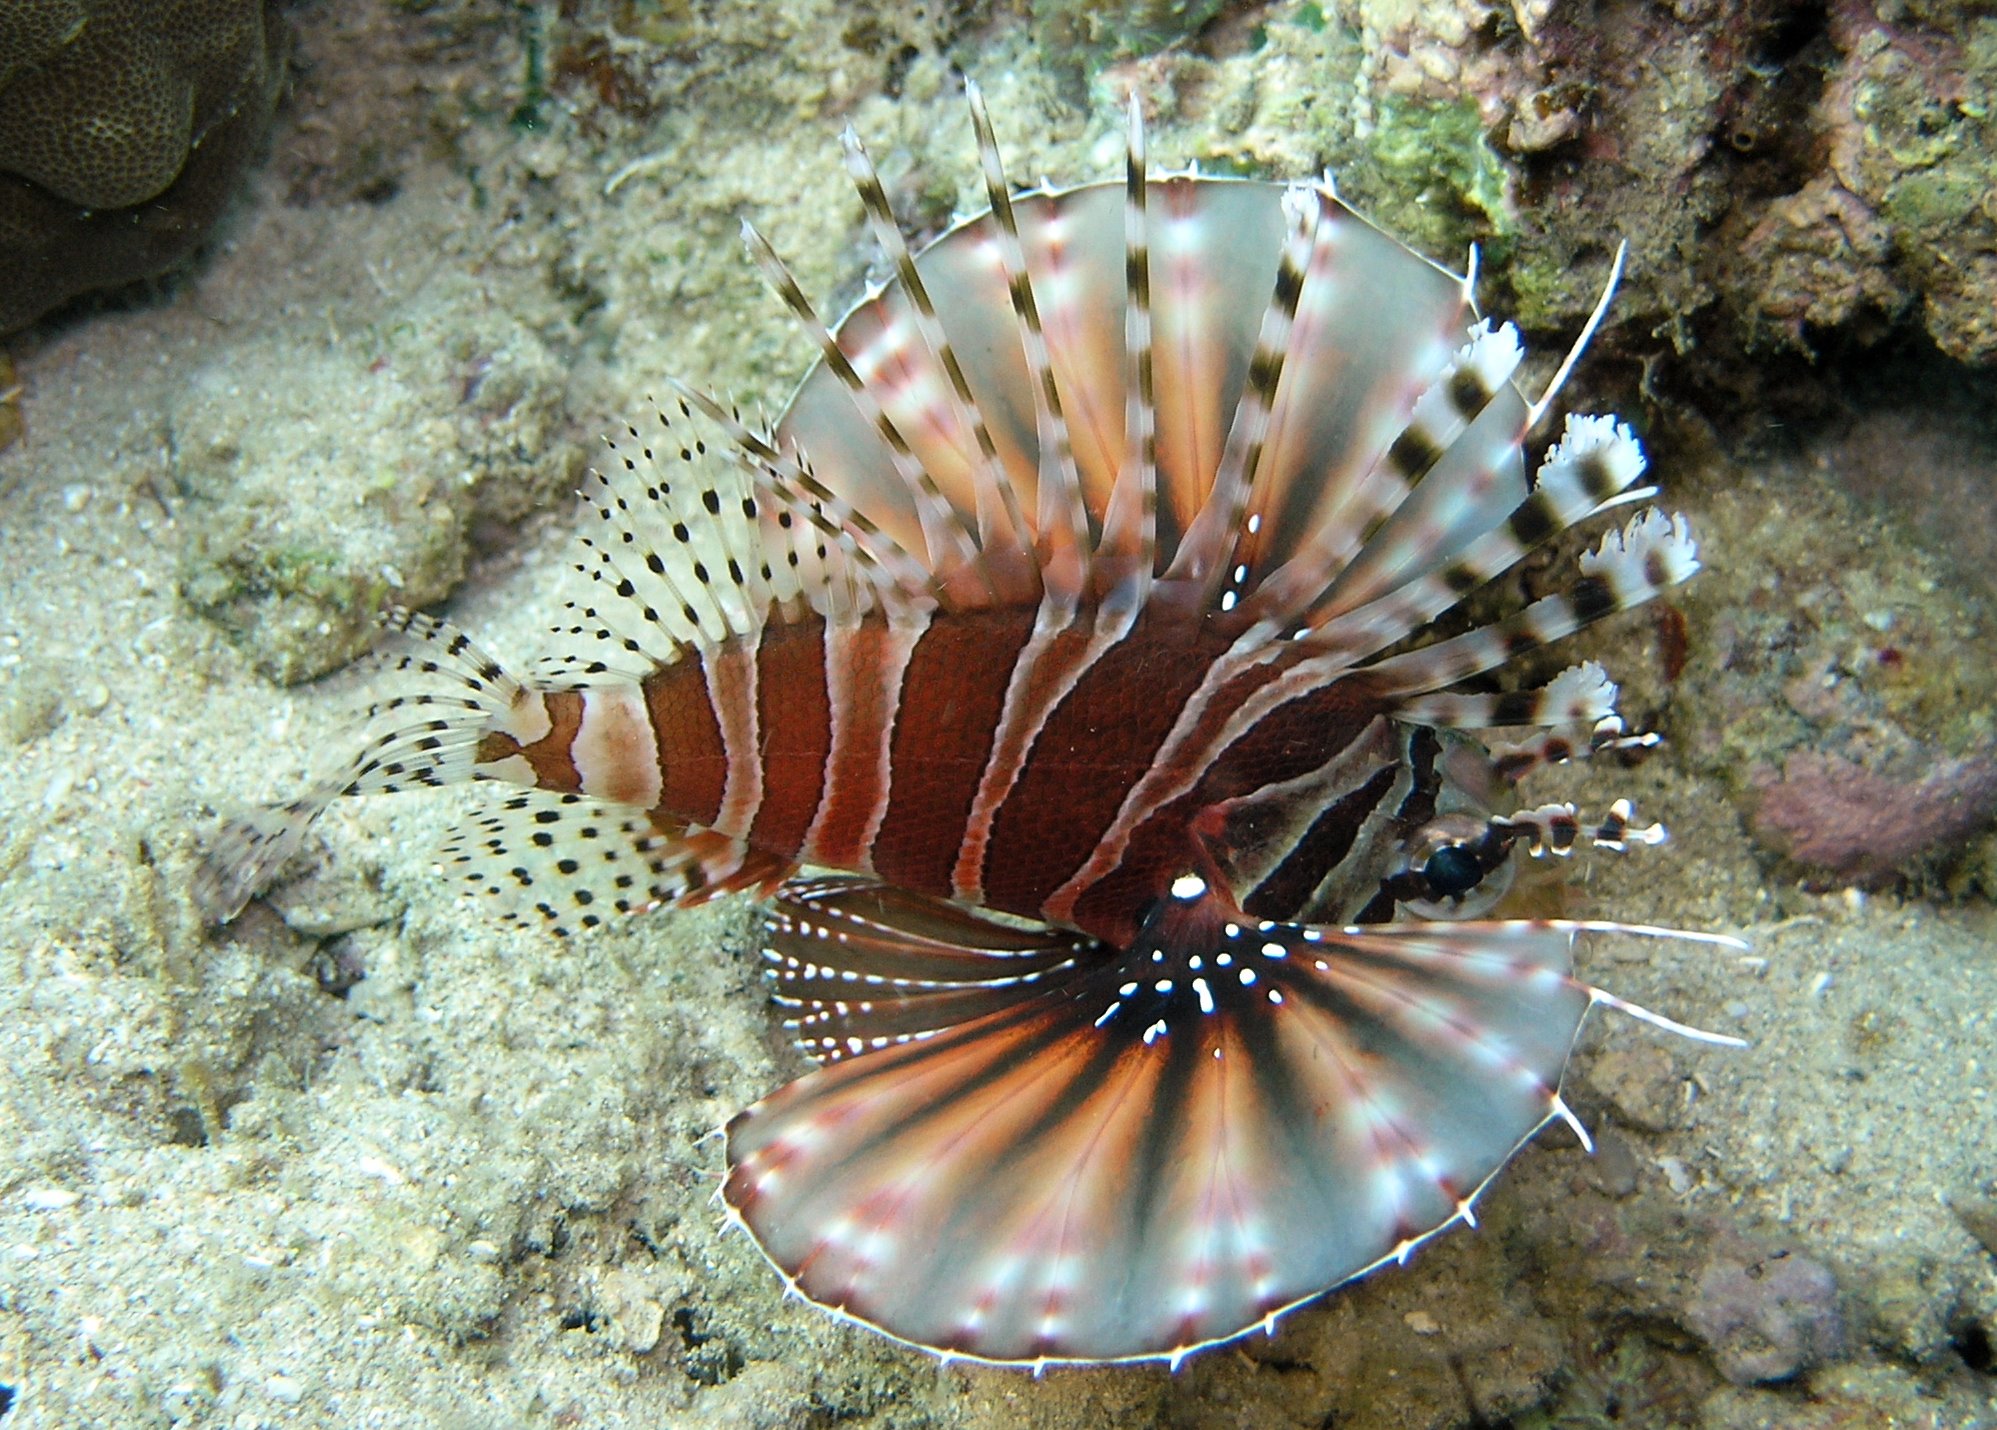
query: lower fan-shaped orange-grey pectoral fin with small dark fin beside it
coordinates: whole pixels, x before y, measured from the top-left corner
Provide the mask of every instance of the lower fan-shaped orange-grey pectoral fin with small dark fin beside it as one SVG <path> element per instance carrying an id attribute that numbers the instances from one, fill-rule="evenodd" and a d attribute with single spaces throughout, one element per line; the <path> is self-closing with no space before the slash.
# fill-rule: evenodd
<path id="1" fill-rule="evenodd" d="M 1130 949 L 981 923 L 779 901 L 793 1023 L 851 1057 L 729 1124 L 723 1194 L 799 1294 L 993 1362 L 1176 1360 L 1474 1220 L 1626 1007 L 1572 973 L 1610 925 L 1254 923 L 1190 877 Z"/>

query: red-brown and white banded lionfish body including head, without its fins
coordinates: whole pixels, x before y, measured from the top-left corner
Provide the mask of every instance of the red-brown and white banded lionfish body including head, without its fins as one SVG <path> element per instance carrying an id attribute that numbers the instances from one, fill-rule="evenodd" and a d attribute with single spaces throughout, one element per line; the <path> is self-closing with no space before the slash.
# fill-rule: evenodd
<path id="1" fill-rule="evenodd" d="M 1306 663 L 1296 645 L 1230 659 L 1170 611 L 1054 631 L 1030 609 L 807 617 L 633 685 L 535 693 L 539 737 L 493 731 L 477 767 L 647 809 L 755 861 L 1130 943 L 1190 869 L 1258 917 L 1344 909 L 1358 889 L 1376 903 L 1374 869 L 1326 885 L 1390 795 L 1404 829 L 1434 809 L 1440 741 L 1414 737 L 1416 759 L 1386 701 L 1300 677 Z M 1330 807 L 1336 829 L 1320 827 Z"/>

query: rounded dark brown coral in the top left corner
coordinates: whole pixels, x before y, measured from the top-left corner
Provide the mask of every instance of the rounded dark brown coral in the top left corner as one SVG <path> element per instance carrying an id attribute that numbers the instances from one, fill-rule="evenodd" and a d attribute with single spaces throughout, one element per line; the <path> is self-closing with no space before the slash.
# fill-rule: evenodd
<path id="1" fill-rule="evenodd" d="M 276 102 L 266 0 L 0 10 L 0 332 L 180 262 Z"/>

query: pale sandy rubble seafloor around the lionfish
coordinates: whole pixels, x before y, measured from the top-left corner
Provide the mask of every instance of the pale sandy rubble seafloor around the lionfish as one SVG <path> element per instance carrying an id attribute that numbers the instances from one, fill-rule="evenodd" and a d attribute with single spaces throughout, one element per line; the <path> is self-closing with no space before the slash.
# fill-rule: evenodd
<path id="1" fill-rule="evenodd" d="M 993 88 L 1004 116 L 1008 84 Z M 949 112 L 841 108 L 887 146 L 927 142 Z M 373 675 L 278 687 L 180 599 L 190 443 L 252 449 L 310 523 L 322 499 L 351 507 L 339 471 L 379 475 L 403 445 L 449 467 L 471 385 L 425 354 L 513 324 L 547 350 L 539 389 L 569 425 L 635 405 L 665 369 L 781 401 L 801 344 L 727 216 L 775 214 L 807 288 L 851 292 L 865 260 L 835 132 L 735 132 L 723 166 L 689 130 L 679 160 L 619 186 L 623 206 L 601 194 L 639 150 L 585 144 L 559 116 L 549 136 L 483 140 L 493 172 L 511 166 L 487 182 L 539 196 L 523 208 L 471 208 L 443 160 L 411 162 L 385 204 L 300 208 L 266 176 L 192 278 L 16 348 L 0 1424 L 1997 1424 L 1997 915 L 1769 873 L 1687 733 L 1709 713 L 1673 717 L 1679 739 L 1636 769 L 1556 771 L 1530 793 L 1632 793 L 1671 823 L 1667 849 L 1590 861 L 1562 907 L 1737 933 L 1751 955 L 1592 939 L 1582 969 L 1751 1047 L 1600 1019 L 1570 1072 L 1594 1158 L 1548 1130 L 1478 1232 L 1176 1374 L 939 1368 L 783 1302 L 713 1204 L 709 1132 L 799 1067 L 771 1035 L 741 905 L 569 945 L 501 931 L 431 871 L 469 801 L 451 793 L 341 809 L 270 905 L 200 927 L 188 875 L 208 811 L 290 793 L 339 753 Z M 1100 172 L 1030 144 L 1054 172 Z M 673 162 L 683 180 L 655 184 Z M 639 232 L 681 254 L 653 292 L 603 260 Z M 603 260 L 615 342 L 555 316 L 549 274 L 571 260 Z M 1743 571 L 1787 569 L 1753 547 L 1771 507 L 1825 569 L 1911 549 L 1839 525 L 1851 507 L 1807 483 L 1713 469 L 1685 485 L 1713 569 L 1687 597 L 1695 641 L 1755 589 Z M 451 619 L 507 657 L 543 649 L 567 529 L 557 501 L 485 543 Z M 1941 581 L 1927 599 L 1949 611 Z M 1648 631 L 1592 649 L 1620 649 L 1642 687 Z M 1793 1266 L 1811 1270 L 1781 1280 Z M 1769 1278 L 1791 1300 L 1755 1290 Z M 1727 1306 L 1767 1318 L 1711 1330 Z M 1795 1374 L 1733 1384 L 1727 1364 Z"/>

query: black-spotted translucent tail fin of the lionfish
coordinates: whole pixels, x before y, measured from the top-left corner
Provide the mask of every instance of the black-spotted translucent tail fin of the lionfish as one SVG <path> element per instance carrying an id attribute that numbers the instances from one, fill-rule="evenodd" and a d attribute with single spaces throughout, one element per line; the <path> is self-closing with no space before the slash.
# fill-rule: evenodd
<path id="1" fill-rule="evenodd" d="M 194 899 L 212 923 L 240 915 L 335 799 L 479 779 L 479 739 L 513 709 L 523 687 L 453 625 L 403 609 L 389 611 L 383 625 L 415 641 L 393 669 L 427 677 L 433 689 L 369 705 L 373 735 L 341 771 L 282 805 L 236 815 L 210 839 Z"/>

